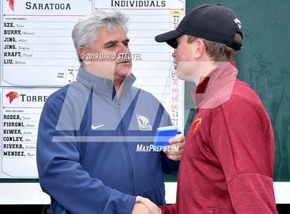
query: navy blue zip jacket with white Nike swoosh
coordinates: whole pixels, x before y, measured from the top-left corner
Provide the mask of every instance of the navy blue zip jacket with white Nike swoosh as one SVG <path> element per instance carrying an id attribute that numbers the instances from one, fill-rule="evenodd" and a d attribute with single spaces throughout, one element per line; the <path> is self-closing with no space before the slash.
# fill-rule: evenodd
<path id="1" fill-rule="evenodd" d="M 110 79 L 80 67 L 77 81 L 48 97 L 39 121 L 37 168 L 52 213 L 127 214 L 136 195 L 165 204 L 163 173 L 176 175 L 179 162 L 148 146 L 156 128 L 170 126 L 171 119 L 134 81 L 133 75 L 124 80 L 118 98 Z"/>

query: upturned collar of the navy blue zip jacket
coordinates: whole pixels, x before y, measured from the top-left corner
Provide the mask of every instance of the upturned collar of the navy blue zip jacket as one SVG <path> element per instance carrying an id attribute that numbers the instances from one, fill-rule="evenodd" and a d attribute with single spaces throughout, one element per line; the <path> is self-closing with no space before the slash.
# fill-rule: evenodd
<path id="1" fill-rule="evenodd" d="M 124 86 L 121 95 L 126 95 L 135 80 L 136 78 L 133 74 L 124 79 Z M 77 72 L 77 81 L 83 84 L 86 88 L 93 88 L 95 93 L 112 97 L 112 99 L 115 97 L 115 87 L 111 79 L 92 75 L 82 66 L 79 66 L 79 72 Z"/>

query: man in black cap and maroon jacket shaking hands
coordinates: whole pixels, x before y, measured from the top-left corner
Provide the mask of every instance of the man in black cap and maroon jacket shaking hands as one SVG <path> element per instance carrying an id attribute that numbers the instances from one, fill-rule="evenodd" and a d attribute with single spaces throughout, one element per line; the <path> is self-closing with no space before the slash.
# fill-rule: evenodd
<path id="1" fill-rule="evenodd" d="M 236 79 L 232 61 L 242 25 L 220 5 L 186 14 L 176 30 L 155 37 L 175 48 L 177 77 L 196 84 L 197 107 L 186 136 L 177 202 L 153 213 L 277 213 L 273 191 L 274 137 L 258 95 Z"/>

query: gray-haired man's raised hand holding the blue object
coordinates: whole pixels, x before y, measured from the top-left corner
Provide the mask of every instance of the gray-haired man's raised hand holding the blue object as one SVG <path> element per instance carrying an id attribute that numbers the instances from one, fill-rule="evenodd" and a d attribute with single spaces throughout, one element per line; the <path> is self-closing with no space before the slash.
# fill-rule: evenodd
<path id="1" fill-rule="evenodd" d="M 166 146 L 164 153 L 169 159 L 179 161 L 182 158 L 182 153 L 185 146 L 184 135 L 176 135 L 175 137 L 169 139 L 169 144 L 169 146 Z M 175 146 L 178 146 L 177 151 L 175 151 Z"/>

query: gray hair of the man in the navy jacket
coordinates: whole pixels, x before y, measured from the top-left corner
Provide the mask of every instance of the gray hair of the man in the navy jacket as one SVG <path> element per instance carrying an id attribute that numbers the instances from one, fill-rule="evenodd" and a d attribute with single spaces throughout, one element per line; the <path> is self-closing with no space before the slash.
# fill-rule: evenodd
<path id="1" fill-rule="evenodd" d="M 72 41 L 77 50 L 80 46 L 88 47 L 97 38 L 97 28 L 106 26 L 111 28 L 123 28 L 127 32 L 128 17 L 119 11 L 106 12 L 104 10 L 95 10 L 86 17 L 80 19 L 72 29 Z M 82 62 L 81 56 L 77 51 L 77 57 Z"/>

